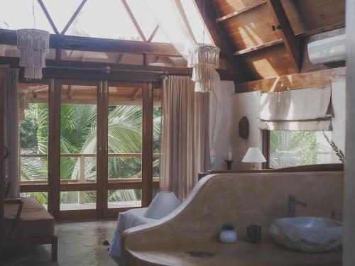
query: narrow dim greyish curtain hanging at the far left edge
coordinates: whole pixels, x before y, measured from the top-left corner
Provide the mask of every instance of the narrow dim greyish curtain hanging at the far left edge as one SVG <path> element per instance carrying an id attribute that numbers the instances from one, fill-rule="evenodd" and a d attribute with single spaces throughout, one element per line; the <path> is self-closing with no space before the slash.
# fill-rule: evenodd
<path id="1" fill-rule="evenodd" d="M 11 187 L 9 197 L 17 197 L 20 194 L 19 187 L 19 139 L 18 139 L 18 70 L 6 69 L 5 85 L 5 113 L 4 135 L 8 157 L 5 160 L 6 182 Z"/>

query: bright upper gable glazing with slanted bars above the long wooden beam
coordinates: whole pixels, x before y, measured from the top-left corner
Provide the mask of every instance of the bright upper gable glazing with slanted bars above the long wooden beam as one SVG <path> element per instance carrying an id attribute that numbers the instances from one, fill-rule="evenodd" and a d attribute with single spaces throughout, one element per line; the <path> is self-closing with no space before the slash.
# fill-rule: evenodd
<path id="1" fill-rule="evenodd" d="M 163 28 L 149 11 L 146 1 L 152 0 L 11 0 L 0 9 L 0 28 L 17 30 L 19 28 L 38 28 L 65 35 L 138 40 L 157 43 L 170 43 Z M 153 0 L 155 1 L 155 0 Z M 35 10 L 33 23 L 32 4 Z M 155 3 L 154 3 L 155 4 Z M 176 16 L 176 11 L 167 9 L 166 3 L 156 2 L 157 12 L 167 18 Z M 193 0 L 181 0 L 188 23 L 197 42 L 202 43 L 203 21 Z M 78 9 L 78 8 L 81 9 Z M 54 26 L 45 15 L 45 9 Z M 161 10 L 160 10 L 161 9 Z M 169 13 L 170 12 L 170 13 Z M 153 12 L 155 13 L 155 12 Z M 74 15 L 74 19 L 72 19 Z M 166 22 L 166 21 L 165 21 Z M 67 28 L 67 26 L 69 26 Z M 55 28 L 55 29 L 53 29 Z M 63 30 L 65 30 L 63 32 Z M 165 29 L 165 31 L 168 31 Z M 171 37 L 171 36 L 170 36 Z M 212 43 L 205 29 L 204 43 Z"/>

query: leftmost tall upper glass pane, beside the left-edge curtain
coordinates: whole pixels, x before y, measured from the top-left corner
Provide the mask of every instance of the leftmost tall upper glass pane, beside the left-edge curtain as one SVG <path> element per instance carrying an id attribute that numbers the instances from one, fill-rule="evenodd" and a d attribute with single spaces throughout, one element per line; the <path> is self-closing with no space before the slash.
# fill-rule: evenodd
<path id="1" fill-rule="evenodd" d="M 48 182 L 48 84 L 18 84 L 20 180 Z"/>

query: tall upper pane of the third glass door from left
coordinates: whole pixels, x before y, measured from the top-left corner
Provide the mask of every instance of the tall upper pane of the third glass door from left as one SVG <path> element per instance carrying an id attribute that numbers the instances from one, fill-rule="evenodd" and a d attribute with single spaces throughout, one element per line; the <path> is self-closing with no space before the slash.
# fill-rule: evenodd
<path id="1" fill-rule="evenodd" d="M 109 87 L 109 179 L 141 178 L 141 90 Z"/>

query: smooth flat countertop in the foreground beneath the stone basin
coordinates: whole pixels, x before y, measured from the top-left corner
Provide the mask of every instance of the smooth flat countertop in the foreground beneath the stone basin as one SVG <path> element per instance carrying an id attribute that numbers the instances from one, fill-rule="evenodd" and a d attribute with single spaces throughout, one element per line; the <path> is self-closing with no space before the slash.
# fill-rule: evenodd
<path id="1" fill-rule="evenodd" d="M 153 245 L 139 250 L 128 250 L 139 265 L 204 265 L 204 266 L 340 266 L 342 252 L 297 253 L 275 243 L 273 239 L 259 244 L 239 240 L 234 244 L 222 244 L 217 240 L 194 243 Z M 206 251 L 212 257 L 191 257 L 187 251 Z"/>

